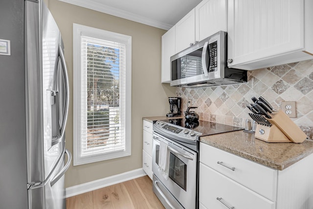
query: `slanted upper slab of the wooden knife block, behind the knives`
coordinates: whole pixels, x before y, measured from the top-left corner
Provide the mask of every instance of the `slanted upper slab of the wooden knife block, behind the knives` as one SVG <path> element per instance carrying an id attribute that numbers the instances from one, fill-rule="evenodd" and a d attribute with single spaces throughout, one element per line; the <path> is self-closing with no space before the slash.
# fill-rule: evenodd
<path id="1" fill-rule="evenodd" d="M 301 143 L 307 139 L 307 135 L 283 111 L 280 110 L 271 117 L 271 119 L 267 119 L 272 126 L 276 125 L 292 142 Z"/>

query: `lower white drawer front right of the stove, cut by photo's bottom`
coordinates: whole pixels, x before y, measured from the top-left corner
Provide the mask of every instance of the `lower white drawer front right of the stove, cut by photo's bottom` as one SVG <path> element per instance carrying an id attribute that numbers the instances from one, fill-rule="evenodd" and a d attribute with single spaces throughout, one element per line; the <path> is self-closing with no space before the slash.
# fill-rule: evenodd
<path id="1" fill-rule="evenodd" d="M 199 201 L 207 209 L 227 209 L 222 202 L 235 209 L 275 209 L 274 202 L 203 163 L 200 163 L 199 185 Z"/>

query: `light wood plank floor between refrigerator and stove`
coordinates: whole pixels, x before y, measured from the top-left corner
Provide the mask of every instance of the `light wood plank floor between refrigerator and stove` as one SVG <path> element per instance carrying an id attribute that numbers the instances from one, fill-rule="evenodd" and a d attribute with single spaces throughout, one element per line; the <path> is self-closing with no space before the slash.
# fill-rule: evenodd
<path id="1" fill-rule="evenodd" d="M 143 176 L 67 198 L 67 209 L 164 209 Z"/>

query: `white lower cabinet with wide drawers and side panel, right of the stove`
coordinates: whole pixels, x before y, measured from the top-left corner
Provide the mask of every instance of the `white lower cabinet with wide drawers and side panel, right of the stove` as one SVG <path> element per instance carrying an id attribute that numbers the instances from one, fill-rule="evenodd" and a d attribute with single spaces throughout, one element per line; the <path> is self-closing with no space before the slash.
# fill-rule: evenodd
<path id="1" fill-rule="evenodd" d="M 313 209 L 312 164 L 276 170 L 201 142 L 199 208 Z"/>

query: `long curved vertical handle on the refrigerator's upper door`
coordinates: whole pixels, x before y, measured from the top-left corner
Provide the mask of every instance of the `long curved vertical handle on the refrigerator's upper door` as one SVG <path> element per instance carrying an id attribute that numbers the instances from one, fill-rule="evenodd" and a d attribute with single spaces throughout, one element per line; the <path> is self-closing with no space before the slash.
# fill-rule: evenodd
<path id="1" fill-rule="evenodd" d="M 58 144 L 65 135 L 65 127 L 67 123 L 67 116 L 68 116 L 68 107 L 69 107 L 69 86 L 68 86 L 68 74 L 67 74 L 67 65 L 65 63 L 65 58 L 64 58 L 64 53 L 61 45 L 59 45 L 59 55 L 61 59 L 61 64 L 62 64 L 62 69 L 63 69 L 63 74 L 64 74 L 64 81 L 65 81 L 65 94 L 66 94 L 66 99 L 65 99 L 65 108 L 64 108 L 64 116 L 63 116 L 63 121 L 62 121 L 62 127 L 60 131 L 60 136 L 54 136 L 51 141 L 51 146 Z"/>

